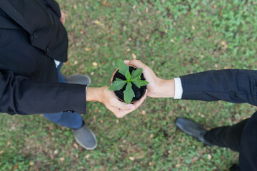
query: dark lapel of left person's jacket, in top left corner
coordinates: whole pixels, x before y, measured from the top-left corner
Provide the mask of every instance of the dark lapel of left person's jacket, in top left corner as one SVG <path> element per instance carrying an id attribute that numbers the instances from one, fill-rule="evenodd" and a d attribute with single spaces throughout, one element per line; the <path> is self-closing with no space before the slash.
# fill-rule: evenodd
<path id="1" fill-rule="evenodd" d="M 13 6 L 9 3 L 7 0 L 0 0 L 0 8 L 9 16 L 11 19 L 16 21 L 17 24 L 19 24 L 21 27 L 23 27 L 26 31 L 29 33 L 32 33 L 31 28 L 29 28 L 29 25 L 25 21 L 25 19 L 19 14 L 16 9 L 14 9 Z M 10 24 L 9 24 L 10 25 Z M 4 23 L 2 24 L 2 28 L 5 28 Z M 11 26 L 11 25 L 10 25 Z"/>

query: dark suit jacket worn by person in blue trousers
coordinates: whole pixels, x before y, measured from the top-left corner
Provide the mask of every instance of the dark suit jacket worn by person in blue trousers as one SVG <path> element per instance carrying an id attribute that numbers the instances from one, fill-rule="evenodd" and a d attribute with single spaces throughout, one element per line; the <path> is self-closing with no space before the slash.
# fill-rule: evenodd
<path id="1" fill-rule="evenodd" d="M 86 113 L 85 86 L 57 83 L 68 38 L 54 0 L 0 1 L 0 112 Z"/>

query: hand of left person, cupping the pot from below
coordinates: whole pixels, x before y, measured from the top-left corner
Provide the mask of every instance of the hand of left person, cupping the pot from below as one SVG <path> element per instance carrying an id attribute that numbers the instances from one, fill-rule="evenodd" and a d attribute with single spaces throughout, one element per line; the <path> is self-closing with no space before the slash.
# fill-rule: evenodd
<path id="1" fill-rule="evenodd" d="M 143 97 L 133 104 L 126 104 L 121 102 L 115 95 L 114 91 L 108 89 L 109 87 L 102 88 L 88 88 L 86 90 L 86 99 L 87 101 L 99 101 L 104 103 L 106 108 L 111 110 L 117 118 L 123 118 L 126 114 L 136 110 L 146 99 L 146 93 Z"/>

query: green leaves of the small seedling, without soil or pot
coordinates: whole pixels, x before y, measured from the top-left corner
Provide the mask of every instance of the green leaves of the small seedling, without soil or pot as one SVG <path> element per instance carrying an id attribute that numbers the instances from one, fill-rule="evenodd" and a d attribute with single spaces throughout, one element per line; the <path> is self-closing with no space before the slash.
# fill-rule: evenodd
<path id="1" fill-rule="evenodd" d="M 142 68 L 137 68 L 130 73 L 129 66 L 127 66 L 120 59 L 118 60 L 118 68 L 119 73 L 124 75 L 126 80 L 116 78 L 116 81 L 113 82 L 109 90 L 121 90 L 126 85 L 126 89 L 123 92 L 124 100 L 127 104 L 129 104 L 131 103 L 132 98 L 135 97 L 135 93 L 132 90 L 132 83 L 134 83 L 138 88 L 141 88 L 141 86 L 146 86 L 148 82 L 141 80 L 141 74 L 143 72 Z"/>

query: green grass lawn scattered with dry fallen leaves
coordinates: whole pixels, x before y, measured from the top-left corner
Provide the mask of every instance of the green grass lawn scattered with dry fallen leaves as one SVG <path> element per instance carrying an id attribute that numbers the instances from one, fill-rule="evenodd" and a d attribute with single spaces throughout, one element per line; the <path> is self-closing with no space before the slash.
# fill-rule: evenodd
<path id="1" fill-rule="evenodd" d="M 137 58 L 161 78 L 211 69 L 256 69 L 254 0 L 58 0 L 67 14 L 65 75 L 86 73 L 109 86 L 117 59 Z M 84 150 L 71 130 L 42 115 L 0 115 L 0 170 L 228 170 L 238 153 L 208 147 L 181 133 L 176 117 L 206 128 L 233 125 L 256 110 L 223 101 L 147 98 L 116 118 L 88 103 L 84 120 L 99 145 Z"/>

